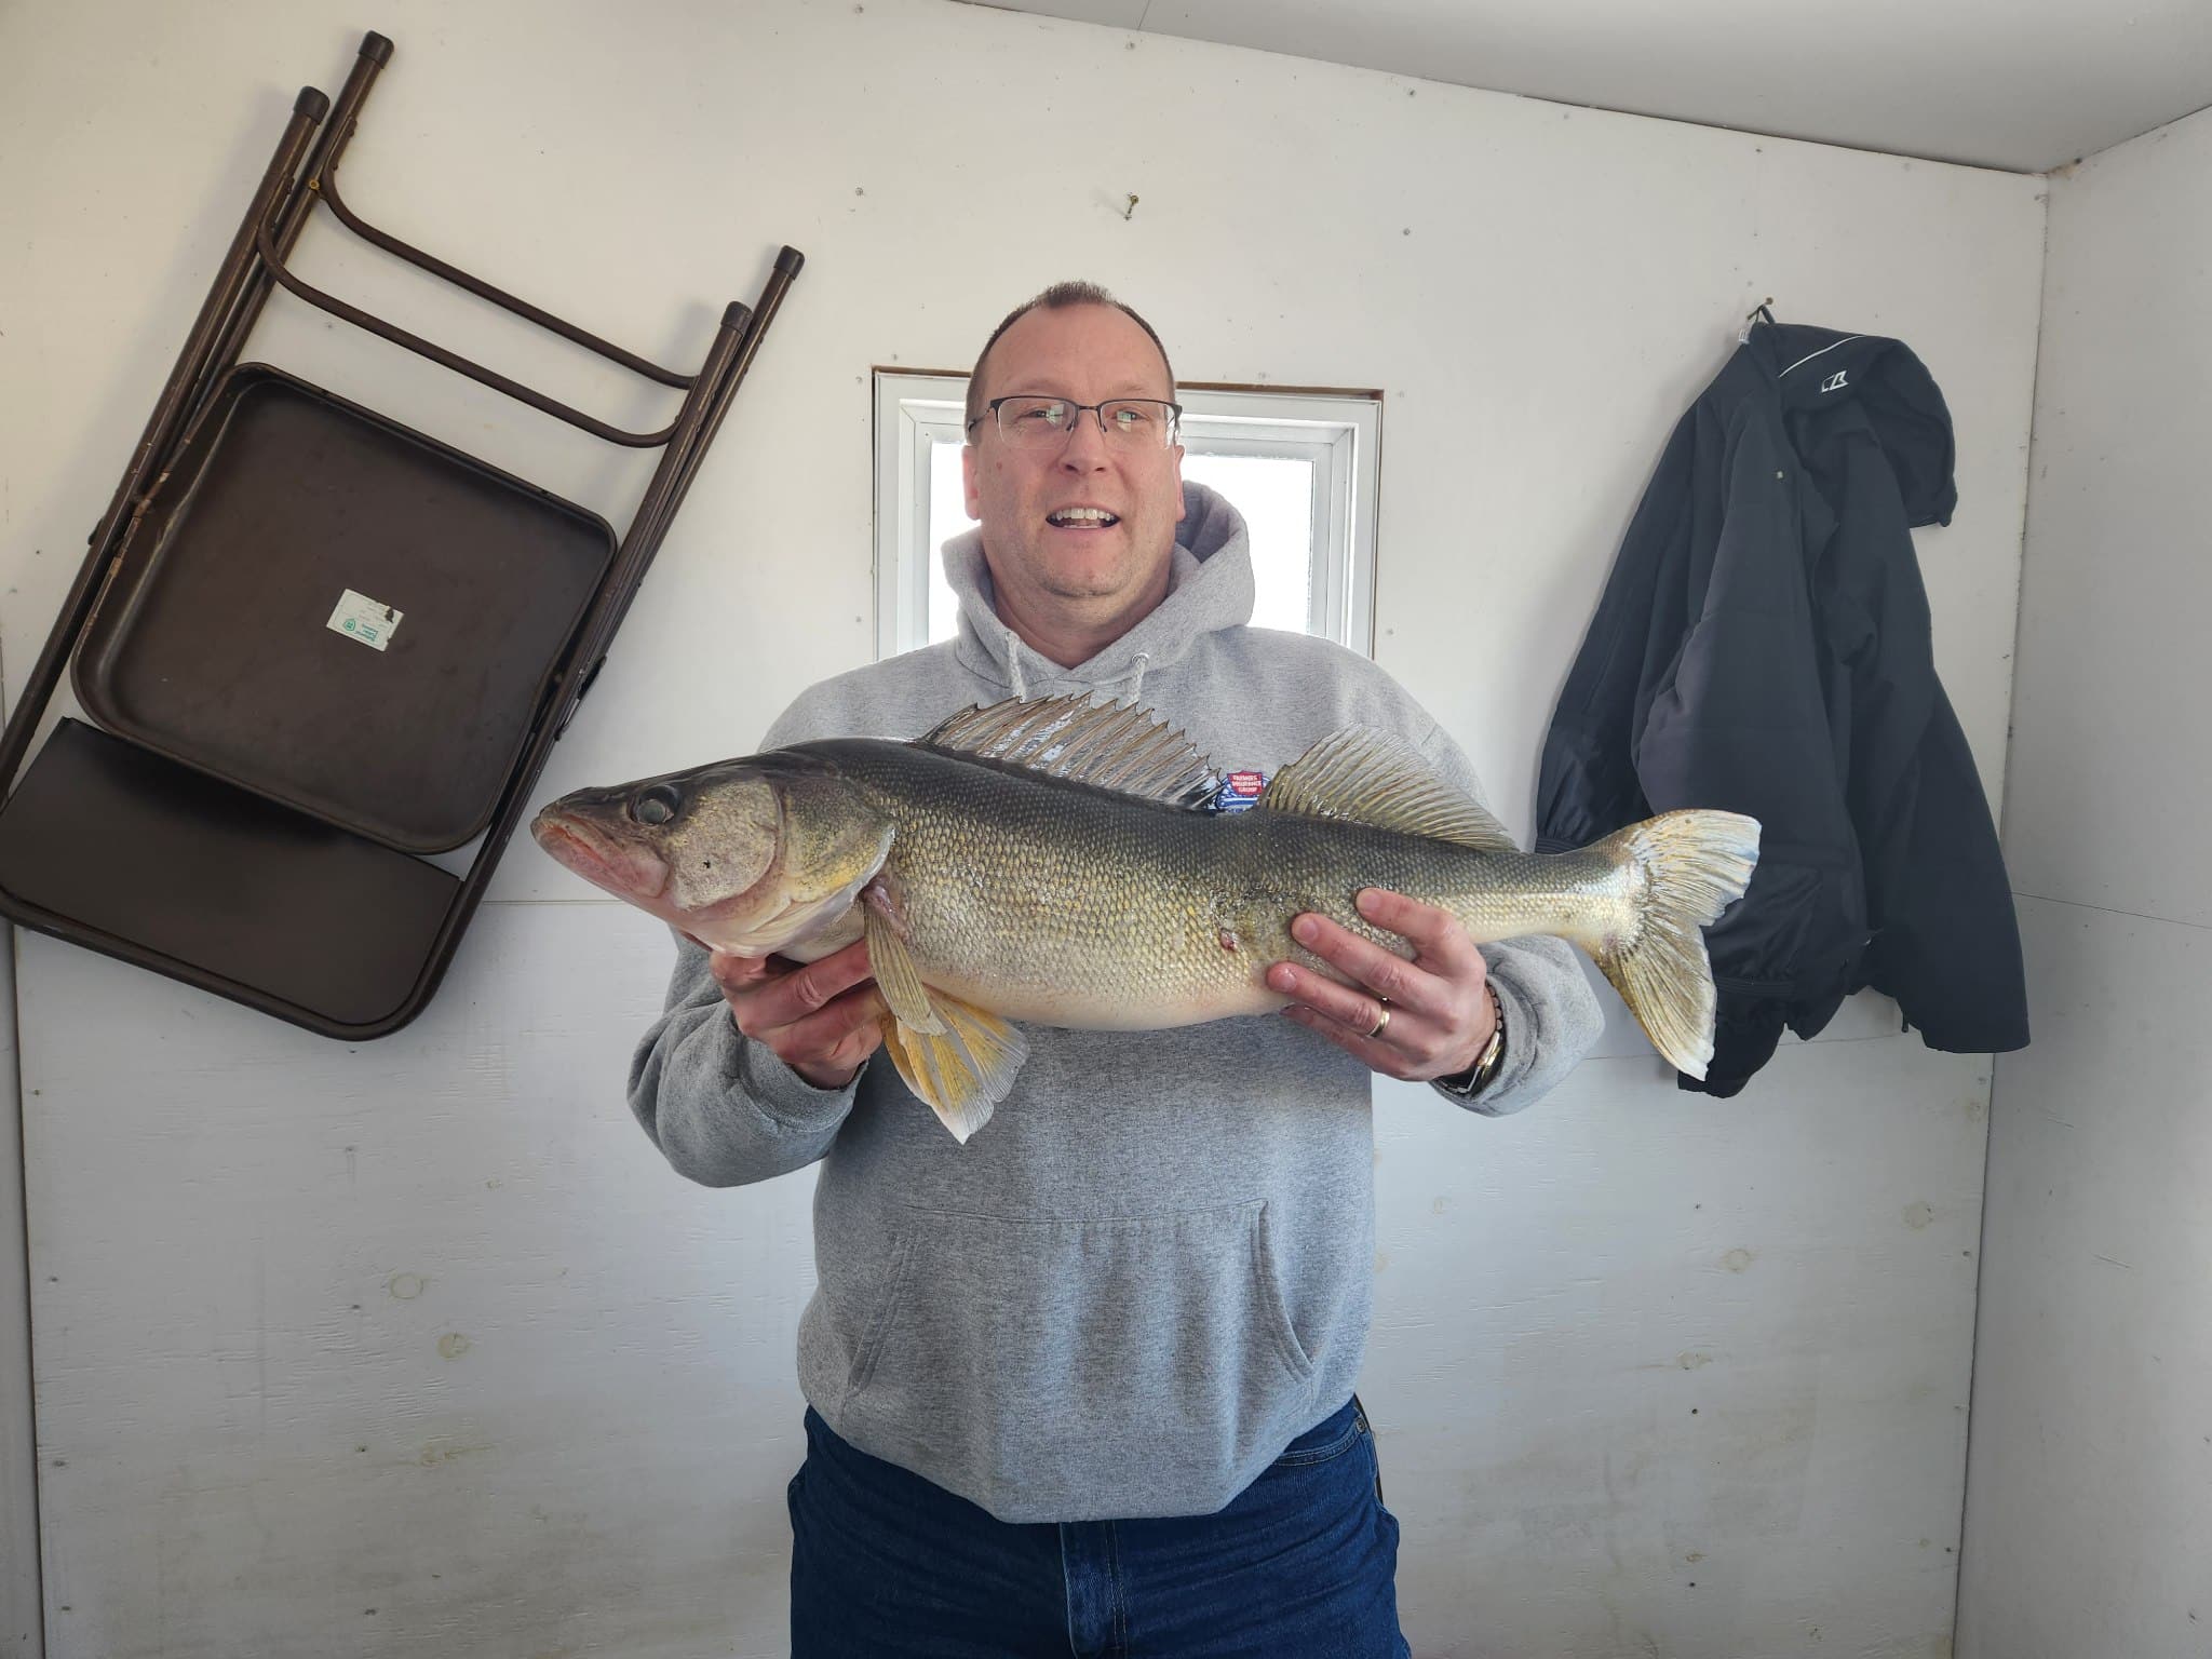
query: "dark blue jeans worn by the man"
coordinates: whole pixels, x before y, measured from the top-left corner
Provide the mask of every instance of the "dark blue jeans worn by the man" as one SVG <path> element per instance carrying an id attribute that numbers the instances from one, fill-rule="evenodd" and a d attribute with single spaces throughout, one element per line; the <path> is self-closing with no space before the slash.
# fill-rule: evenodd
<path id="1" fill-rule="evenodd" d="M 993 1520 L 807 1411 L 792 1659 L 1407 1659 L 1398 1520 L 1354 1398 L 1217 1515 Z"/>

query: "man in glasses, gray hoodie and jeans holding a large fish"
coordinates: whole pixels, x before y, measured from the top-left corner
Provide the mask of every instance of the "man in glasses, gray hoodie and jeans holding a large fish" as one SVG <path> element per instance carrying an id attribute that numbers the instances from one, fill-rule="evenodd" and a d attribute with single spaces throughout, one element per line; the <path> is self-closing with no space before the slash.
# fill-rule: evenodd
<path id="1" fill-rule="evenodd" d="M 960 637 L 807 690 L 768 745 L 918 737 L 1093 690 L 1274 772 L 1371 726 L 1475 792 L 1374 664 L 1245 626 L 1243 522 L 1181 482 L 1157 334 L 1088 283 L 1009 316 L 969 383 Z M 1400 1655 L 1396 1520 L 1352 1398 L 1374 1259 L 1369 1073 L 1513 1110 L 1599 1029 L 1559 940 L 1484 960 L 1444 911 L 1323 920 L 1267 969 L 1287 1018 L 1031 1026 L 967 1146 L 872 1064 L 865 942 L 803 969 L 679 942 L 630 1104 L 708 1183 L 818 1161 L 799 1334 L 792 1650 Z"/>

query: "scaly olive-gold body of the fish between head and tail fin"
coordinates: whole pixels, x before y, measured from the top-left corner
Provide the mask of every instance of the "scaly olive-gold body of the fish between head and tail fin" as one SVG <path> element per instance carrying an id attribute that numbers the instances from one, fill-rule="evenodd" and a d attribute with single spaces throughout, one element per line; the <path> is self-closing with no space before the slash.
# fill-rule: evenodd
<path id="1" fill-rule="evenodd" d="M 1475 942 L 1586 931 L 1626 905 L 1590 854 L 1491 854 L 1279 812 L 1208 814 L 878 739 L 805 743 L 891 816 L 885 865 L 925 978 L 1015 1020 L 1141 1031 L 1263 1013 L 1270 962 L 1336 975 L 1290 938 L 1301 911 L 1409 953 L 1356 909 L 1389 887 Z"/>

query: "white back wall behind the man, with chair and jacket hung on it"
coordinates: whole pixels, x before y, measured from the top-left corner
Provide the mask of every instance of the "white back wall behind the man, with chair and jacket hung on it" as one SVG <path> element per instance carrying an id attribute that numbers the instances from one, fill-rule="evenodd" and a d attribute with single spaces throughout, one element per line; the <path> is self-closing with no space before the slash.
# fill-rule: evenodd
<path id="1" fill-rule="evenodd" d="M 1188 378 L 1387 389 L 1378 650 L 1522 834 L 1617 538 L 1743 312 L 1900 334 L 1960 425 L 1922 553 L 1995 785 L 2035 179 L 936 0 L 376 24 L 347 195 L 400 234 L 670 361 L 776 243 L 810 257 L 546 794 L 743 750 L 863 661 L 869 367 L 962 365 L 1068 274 Z M 294 88 L 336 91 L 358 27 L 0 18 L 18 672 Z M 664 407 L 327 223 L 301 265 Z M 296 305 L 257 349 L 617 518 L 641 482 Z M 55 1655 L 781 1650 L 810 1183 L 672 1177 L 619 1095 L 659 929 L 526 845 L 495 891 L 431 1011 L 358 1053 L 24 942 Z M 1893 1031 L 1865 1000 L 1734 1102 L 1626 1029 L 1520 1121 L 1385 1091 L 1363 1391 L 1416 1650 L 1942 1652 L 1986 1064 Z"/>

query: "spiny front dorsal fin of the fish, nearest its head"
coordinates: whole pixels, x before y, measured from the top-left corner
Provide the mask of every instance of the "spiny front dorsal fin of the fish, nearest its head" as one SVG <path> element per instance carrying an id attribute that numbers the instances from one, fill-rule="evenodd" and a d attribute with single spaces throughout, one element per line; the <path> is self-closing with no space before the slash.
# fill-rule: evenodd
<path id="1" fill-rule="evenodd" d="M 1177 807 L 1203 805 L 1221 790 L 1221 774 L 1166 719 L 1148 708 L 1093 703 L 1088 692 L 964 708 L 916 741 Z"/>

